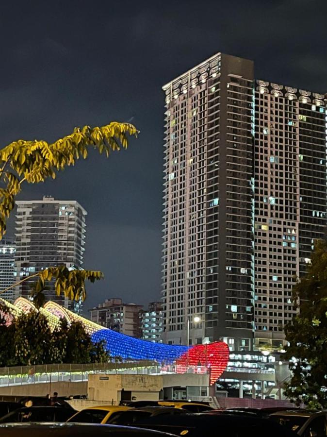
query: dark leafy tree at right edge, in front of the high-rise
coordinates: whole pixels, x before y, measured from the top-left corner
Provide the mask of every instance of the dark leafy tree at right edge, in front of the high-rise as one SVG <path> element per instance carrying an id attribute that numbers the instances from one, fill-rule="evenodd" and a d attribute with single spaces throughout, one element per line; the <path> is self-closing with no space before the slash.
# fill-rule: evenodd
<path id="1" fill-rule="evenodd" d="M 315 241 L 293 300 L 299 314 L 285 326 L 285 358 L 292 371 L 285 395 L 296 405 L 327 408 L 327 241 Z"/>

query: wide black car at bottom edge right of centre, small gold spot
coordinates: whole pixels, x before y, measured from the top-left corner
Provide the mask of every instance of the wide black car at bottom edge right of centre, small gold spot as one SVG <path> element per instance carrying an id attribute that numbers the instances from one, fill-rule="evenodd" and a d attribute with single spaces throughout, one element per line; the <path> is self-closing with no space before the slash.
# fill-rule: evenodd
<path id="1" fill-rule="evenodd" d="M 180 414 L 169 420 L 156 416 L 137 426 L 187 437 L 294 437 L 294 432 L 269 419 L 233 414 Z"/>

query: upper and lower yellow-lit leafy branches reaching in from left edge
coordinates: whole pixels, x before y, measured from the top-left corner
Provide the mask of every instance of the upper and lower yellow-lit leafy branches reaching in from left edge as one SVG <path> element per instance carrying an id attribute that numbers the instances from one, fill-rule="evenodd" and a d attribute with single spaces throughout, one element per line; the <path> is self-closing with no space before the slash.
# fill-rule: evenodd
<path id="1" fill-rule="evenodd" d="M 0 150 L 0 239 L 6 231 L 6 220 L 15 207 L 17 194 L 23 183 L 37 184 L 48 178 L 55 178 L 58 170 L 73 166 L 86 159 L 89 148 L 97 149 L 109 157 L 111 151 L 128 146 L 128 135 L 137 136 L 137 129 L 130 123 L 112 122 L 107 126 L 75 128 L 72 134 L 52 144 L 46 141 L 18 140 Z M 32 296 L 37 306 L 44 302 L 46 281 L 55 281 L 56 294 L 64 293 L 70 300 L 83 301 L 86 298 L 85 280 L 94 282 L 103 278 L 100 271 L 68 270 L 65 266 L 51 267 L 35 273 L 10 288 L 38 276 L 32 287 Z"/>

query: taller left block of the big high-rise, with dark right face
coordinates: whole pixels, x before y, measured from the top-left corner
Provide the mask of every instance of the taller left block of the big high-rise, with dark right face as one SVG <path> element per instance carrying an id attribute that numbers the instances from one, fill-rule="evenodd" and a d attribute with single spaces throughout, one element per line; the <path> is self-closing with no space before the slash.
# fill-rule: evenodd
<path id="1" fill-rule="evenodd" d="M 253 62 L 220 53 L 163 87 L 168 342 L 253 337 L 253 89 Z"/>

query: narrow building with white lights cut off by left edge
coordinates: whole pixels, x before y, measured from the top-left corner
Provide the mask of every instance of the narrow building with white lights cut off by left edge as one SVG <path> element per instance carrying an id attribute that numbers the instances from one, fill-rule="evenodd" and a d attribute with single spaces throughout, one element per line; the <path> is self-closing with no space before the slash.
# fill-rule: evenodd
<path id="1" fill-rule="evenodd" d="M 3 237 L 0 240 L 0 291 L 15 284 L 15 252 L 16 244 L 13 239 Z M 14 289 L 0 294 L 2 299 L 6 301 L 14 301 Z"/>

